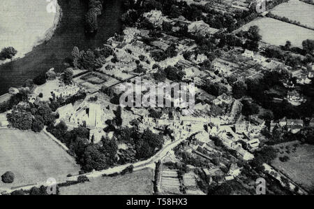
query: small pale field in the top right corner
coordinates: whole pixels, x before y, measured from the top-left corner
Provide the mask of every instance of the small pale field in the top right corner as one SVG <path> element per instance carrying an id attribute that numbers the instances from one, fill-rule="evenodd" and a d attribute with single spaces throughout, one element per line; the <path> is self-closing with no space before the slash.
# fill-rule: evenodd
<path id="1" fill-rule="evenodd" d="M 314 28 L 314 5 L 298 0 L 290 0 L 276 6 L 271 13 L 280 17 L 287 17 L 308 27 Z"/>

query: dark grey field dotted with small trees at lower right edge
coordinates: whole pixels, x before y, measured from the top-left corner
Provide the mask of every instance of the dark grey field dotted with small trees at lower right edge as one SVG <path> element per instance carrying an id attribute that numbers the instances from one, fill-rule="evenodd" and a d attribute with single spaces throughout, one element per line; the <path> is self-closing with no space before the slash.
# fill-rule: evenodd
<path id="1" fill-rule="evenodd" d="M 303 186 L 305 189 L 314 188 L 314 145 L 298 145 L 294 152 L 294 146 L 283 144 L 283 148 L 279 149 L 283 154 L 278 157 L 287 156 L 290 159 L 282 162 L 279 158 L 275 159 L 271 164 L 279 171 L 285 173 L 289 178 Z M 289 148 L 287 148 L 289 147 Z M 289 150 L 287 153 L 286 151 Z"/>

